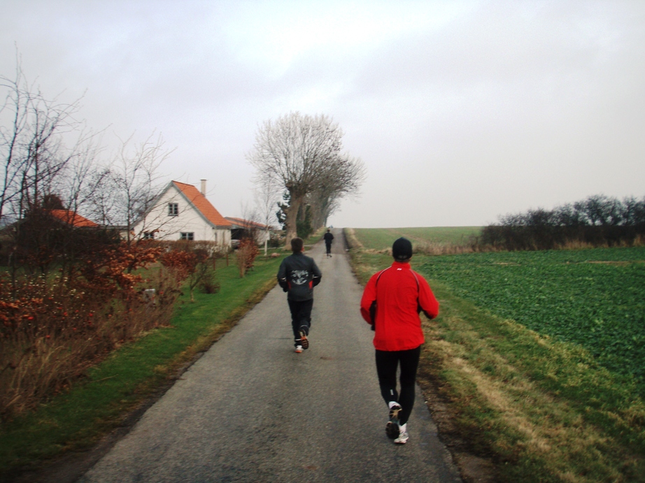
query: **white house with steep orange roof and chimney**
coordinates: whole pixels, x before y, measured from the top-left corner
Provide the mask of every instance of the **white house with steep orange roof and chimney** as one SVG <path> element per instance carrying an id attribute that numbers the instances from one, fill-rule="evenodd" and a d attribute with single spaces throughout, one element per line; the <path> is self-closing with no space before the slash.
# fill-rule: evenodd
<path id="1" fill-rule="evenodd" d="M 193 185 L 171 181 L 152 208 L 134 224 L 134 236 L 155 240 L 212 241 L 231 246 L 231 222 L 206 199 L 206 180 L 201 192 Z"/>

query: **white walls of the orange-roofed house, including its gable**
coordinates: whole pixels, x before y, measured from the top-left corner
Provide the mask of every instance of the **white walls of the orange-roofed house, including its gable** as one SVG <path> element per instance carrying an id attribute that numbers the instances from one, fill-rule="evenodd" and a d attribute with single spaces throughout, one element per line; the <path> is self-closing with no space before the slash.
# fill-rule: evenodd
<path id="1" fill-rule="evenodd" d="M 168 204 L 178 204 L 178 215 L 168 214 Z M 181 233 L 193 233 L 194 240 L 231 245 L 231 230 L 215 229 L 173 185 L 166 190 L 148 215 L 134 226 L 134 234 L 155 233 L 155 240 L 180 240 Z"/>

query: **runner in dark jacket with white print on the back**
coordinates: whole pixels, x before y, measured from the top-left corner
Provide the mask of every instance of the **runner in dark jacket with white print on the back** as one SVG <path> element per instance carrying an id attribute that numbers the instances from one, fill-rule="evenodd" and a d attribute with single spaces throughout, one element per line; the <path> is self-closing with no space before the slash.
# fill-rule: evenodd
<path id="1" fill-rule="evenodd" d="M 322 279 L 320 268 L 304 252 L 302 238 L 291 240 L 292 255 L 286 257 L 278 269 L 278 284 L 288 292 L 287 302 L 291 312 L 296 352 L 309 348 L 311 308 L 313 308 L 313 287 Z"/>

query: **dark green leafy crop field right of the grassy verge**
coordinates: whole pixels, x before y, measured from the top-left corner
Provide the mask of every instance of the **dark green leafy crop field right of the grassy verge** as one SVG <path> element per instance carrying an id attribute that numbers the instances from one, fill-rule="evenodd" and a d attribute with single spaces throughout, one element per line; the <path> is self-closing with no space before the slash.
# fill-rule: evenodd
<path id="1" fill-rule="evenodd" d="M 645 248 L 430 257 L 418 270 L 495 315 L 645 382 Z"/>

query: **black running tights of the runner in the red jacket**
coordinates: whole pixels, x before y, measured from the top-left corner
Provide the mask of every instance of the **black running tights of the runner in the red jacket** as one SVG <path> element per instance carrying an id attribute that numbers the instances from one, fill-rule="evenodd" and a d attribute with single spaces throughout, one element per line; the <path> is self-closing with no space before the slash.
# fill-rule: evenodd
<path id="1" fill-rule="evenodd" d="M 419 365 L 421 346 L 416 349 L 399 351 L 376 351 L 376 373 L 378 385 L 381 387 L 381 396 L 385 403 L 396 401 L 401 405 L 399 424 L 406 424 L 414 405 L 414 384 L 416 383 L 416 369 Z M 401 368 L 399 382 L 401 393 L 397 393 L 397 367 Z"/>

